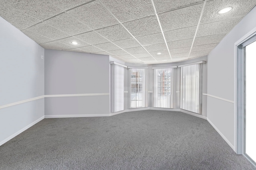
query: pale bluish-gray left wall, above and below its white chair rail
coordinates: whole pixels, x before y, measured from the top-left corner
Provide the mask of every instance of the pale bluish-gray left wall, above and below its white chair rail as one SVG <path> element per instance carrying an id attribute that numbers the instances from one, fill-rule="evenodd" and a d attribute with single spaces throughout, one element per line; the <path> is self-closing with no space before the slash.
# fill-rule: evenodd
<path id="1" fill-rule="evenodd" d="M 0 106 L 44 95 L 44 49 L 0 17 Z M 0 142 L 44 116 L 44 99 L 0 109 Z"/>

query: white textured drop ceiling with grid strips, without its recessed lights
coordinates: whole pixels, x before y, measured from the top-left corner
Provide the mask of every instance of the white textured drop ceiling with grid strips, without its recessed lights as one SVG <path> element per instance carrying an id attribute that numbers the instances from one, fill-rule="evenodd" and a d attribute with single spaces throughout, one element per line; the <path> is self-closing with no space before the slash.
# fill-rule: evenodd
<path id="1" fill-rule="evenodd" d="M 256 0 L 0 2 L 0 16 L 45 49 L 110 55 L 145 64 L 208 55 L 256 5 Z M 225 7 L 232 10 L 218 14 Z"/>

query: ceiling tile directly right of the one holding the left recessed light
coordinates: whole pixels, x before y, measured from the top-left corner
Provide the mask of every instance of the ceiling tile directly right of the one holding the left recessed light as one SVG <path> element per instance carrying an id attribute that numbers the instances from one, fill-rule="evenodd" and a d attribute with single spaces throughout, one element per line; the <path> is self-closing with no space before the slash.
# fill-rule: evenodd
<path id="1" fill-rule="evenodd" d="M 85 41 L 86 43 L 89 43 L 91 45 L 109 42 L 107 39 L 105 39 L 95 31 L 90 31 L 87 33 L 75 35 L 74 37 L 77 37 L 78 39 L 81 39 L 82 41 Z"/>

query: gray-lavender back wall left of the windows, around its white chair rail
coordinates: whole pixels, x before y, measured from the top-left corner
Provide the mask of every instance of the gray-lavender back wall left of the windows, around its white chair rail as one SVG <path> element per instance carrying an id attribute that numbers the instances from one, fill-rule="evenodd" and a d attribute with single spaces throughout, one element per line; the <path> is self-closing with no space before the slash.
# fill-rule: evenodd
<path id="1" fill-rule="evenodd" d="M 109 93 L 109 56 L 45 50 L 45 95 Z M 45 98 L 45 115 L 109 114 L 109 95 Z"/>

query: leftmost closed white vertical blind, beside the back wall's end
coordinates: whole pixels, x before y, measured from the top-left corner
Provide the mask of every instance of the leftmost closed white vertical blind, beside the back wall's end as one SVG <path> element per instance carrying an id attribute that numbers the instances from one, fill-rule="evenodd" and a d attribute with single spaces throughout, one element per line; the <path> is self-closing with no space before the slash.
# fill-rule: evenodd
<path id="1" fill-rule="evenodd" d="M 112 65 L 113 72 L 113 108 L 112 112 L 124 110 L 124 67 Z"/>

